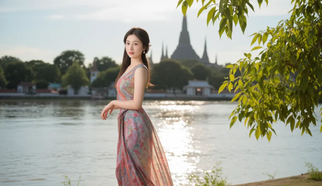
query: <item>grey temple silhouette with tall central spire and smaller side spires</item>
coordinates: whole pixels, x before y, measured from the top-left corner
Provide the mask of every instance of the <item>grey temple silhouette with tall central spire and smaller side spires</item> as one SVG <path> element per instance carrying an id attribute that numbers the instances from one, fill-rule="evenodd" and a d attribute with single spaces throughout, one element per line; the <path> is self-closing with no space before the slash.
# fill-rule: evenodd
<path id="1" fill-rule="evenodd" d="M 151 54 L 152 56 L 152 54 Z M 150 59 L 151 59 L 150 56 Z M 183 16 L 183 21 L 182 21 L 182 30 L 180 33 L 179 37 L 179 43 L 171 55 L 171 57 L 168 57 L 168 49 L 166 47 L 166 52 L 164 52 L 164 43 L 162 42 L 162 54 L 161 54 L 161 59 L 166 60 L 166 59 L 172 59 L 172 60 L 198 60 L 200 63 L 203 63 L 207 66 L 209 65 L 218 65 L 217 64 L 217 55 L 216 55 L 216 60 L 215 63 L 211 63 L 208 58 L 207 54 L 207 43 L 206 39 L 204 41 L 204 54 L 202 58 L 200 58 L 196 52 L 194 51 L 191 43 L 190 43 L 190 36 L 187 28 L 187 16 Z M 151 60 L 152 62 L 152 60 Z"/>

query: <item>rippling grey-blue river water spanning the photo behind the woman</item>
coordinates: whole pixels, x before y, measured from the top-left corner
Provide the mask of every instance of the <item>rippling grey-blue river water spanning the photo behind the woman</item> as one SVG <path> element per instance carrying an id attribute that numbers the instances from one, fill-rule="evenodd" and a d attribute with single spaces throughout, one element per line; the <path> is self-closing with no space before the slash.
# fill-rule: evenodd
<path id="1" fill-rule="evenodd" d="M 75 185 L 116 186 L 117 115 L 100 118 L 107 101 L 0 100 L 0 185 L 60 186 L 64 176 Z M 273 125 L 268 143 L 249 138 L 243 122 L 229 128 L 236 104 L 206 101 L 145 101 L 167 155 L 175 185 L 187 175 L 211 170 L 221 162 L 231 184 L 268 180 L 307 172 L 305 162 L 322 170 L 322 134 L 293 133 Z M 318 111 L 318 110 L 317 110 Z"/>

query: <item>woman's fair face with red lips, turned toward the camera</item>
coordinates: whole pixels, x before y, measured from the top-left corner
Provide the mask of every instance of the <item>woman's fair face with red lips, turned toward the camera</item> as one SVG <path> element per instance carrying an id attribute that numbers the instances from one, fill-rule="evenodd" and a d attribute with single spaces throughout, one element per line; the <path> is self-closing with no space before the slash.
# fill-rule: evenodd
<path id="1" fill-rule="evenodd" d="M 141 58 L 145 49 L 143 48 L 143 44 L 139 38 L 132 34 L 126 38 L 125 50 L 130 58 Z"/>

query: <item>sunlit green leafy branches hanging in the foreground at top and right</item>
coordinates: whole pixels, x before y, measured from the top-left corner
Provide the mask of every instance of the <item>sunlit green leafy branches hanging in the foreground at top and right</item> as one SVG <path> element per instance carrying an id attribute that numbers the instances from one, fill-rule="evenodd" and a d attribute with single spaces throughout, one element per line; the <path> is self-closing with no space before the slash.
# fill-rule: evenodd
<path id="1" fill-rule="evenodd" d="M 182 3 L 183 14 L 193 2 L 178 2 L 178 6 Z M 263 1 L 257 2 L 260 6 Z M 265 2 L 268 5 L 268 0 Z M 227 37 L 232 38 L 233 23 L 235 26 L 239 23 L 244 33 L 247 25 L 244 14 L 248 14 L 248 7 L 253 10 L 249 0 L 220 0 L 219 4 L 214 3 L 209 1 L 204 4 L 202 0 L 203 7 L 198 16 L 213 6 L 208 12 L 207 25 L 210 20 L 213 24 L 220 20 L 220 37 L 225 31 Z M 292 0 L 291 3 L 294 7 L 289 19 L 281 20 L 275 28 L 267 27 L 265 31 L 252 34 L 251 45 L 258 42 L 252 50 L 262 51 L 255 58 L 245 53 L 246 58 L 228 65 L 229 80 L 224 81 L 219 90 L 234 88 L 241 91 L 232 99 L 238 99 L 238 106 L 229 117 L 230 127 L 237 119 L 244 119 L 245 125 L 250 128 L 249 135 L 255 132 L 257 139 L 266 135 L 270 141 L 272 132 L 276 135 L 272 125 L 278 120 L 290 124 L 292 132 L 299 128 L 302 135 L 304 132 L 312 135 L 309 126 L 317 125 L 314 115 L 322 94 L 322 3 L 320 0 Z M 237 69 L 242 71 L 240 76 L 235 75 Z"/>

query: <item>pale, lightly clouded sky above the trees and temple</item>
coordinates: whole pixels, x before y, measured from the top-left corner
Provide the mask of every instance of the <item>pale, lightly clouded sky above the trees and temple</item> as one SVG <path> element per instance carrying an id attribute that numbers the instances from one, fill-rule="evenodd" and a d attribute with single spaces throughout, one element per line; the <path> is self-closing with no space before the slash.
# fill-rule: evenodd
<path id="1" fill-rule="evenodd" d="M 217 0 L 219 2 L 219 0 Z M 0 0 L 0 57 L 11 55 L 23 61 L 43 60 L 53 63 L 62 51 L 78 50 L 85 55 L 85 64 L 95 57 L 111 57 L 121 63 L 123 37 L 132 27 L 144 28 L 149 36 L 154 63 L 160 61 L 162 42 L 170 57 L 178 45 L 183 14 L 177 0 Z M 205 2 L 208 2 L 206 0 Z M 219 64 L 235 63 L 250 52 L 251 34 L 275 27 L 288 19 L 290 0 L 265 1 L 260 9 L 251 0 L 247 27 L 243 34 L 239 24 L 233 28 L 232 40 L 223 33 L 219 21 L 207 27 L 207 12 L 198 18 L 201 1 L 187 11 L 187 26 L 194 51 L 202 57 L 204 42 L 210 62 L 217 55 Z M 257 51 L 252 51 L 257 55 Z"/>

